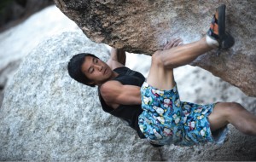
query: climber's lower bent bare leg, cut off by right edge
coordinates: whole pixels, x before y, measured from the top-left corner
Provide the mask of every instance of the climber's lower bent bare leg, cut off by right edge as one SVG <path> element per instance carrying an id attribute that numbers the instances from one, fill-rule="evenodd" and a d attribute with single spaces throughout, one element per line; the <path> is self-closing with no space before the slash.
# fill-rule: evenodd
<path id="1" fill-rule="evenodd" d="M 247 135 L 256 135 L 256 116 L 236 102 L 219 102 L 208 116 L 211 130 L 218 130 L 226 124 L 233 124 Z"/>

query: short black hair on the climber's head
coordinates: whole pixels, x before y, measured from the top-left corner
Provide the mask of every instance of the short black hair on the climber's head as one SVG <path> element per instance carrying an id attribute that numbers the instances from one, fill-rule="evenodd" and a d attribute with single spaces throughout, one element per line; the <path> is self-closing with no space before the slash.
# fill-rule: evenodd
<path id="1" fill-rule="evenodd" d="M 71 78 L 75 79 L 81 84 L 85 84 L 90 87 L 95 87 L 95 84 L 89 84 L 91 80 L 87 78 L 81 70 L 86 56 L 98 58 L 96 55 L 92 55 L 89 53 L 80 53 L 77 55 L 73 55 L 73 57 L 70 59 L 67 65 L 68 74 Z"/>

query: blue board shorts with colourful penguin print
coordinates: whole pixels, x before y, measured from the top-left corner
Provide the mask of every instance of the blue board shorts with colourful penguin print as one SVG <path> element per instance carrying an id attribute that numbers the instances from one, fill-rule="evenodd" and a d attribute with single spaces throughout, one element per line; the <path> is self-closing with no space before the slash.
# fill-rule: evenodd
<path id="1" fill-rule="evenodd" d="M 158 90 L 144 82 L 141 95 L 143 113 L 138 117 L 138 124 L 148 142 L 179 146 L 224 142 L 227 128 L 212 136 L 207 119 L 214 103 L 198 105 L 180 101 L 177 85 L 172 90 Z"/>

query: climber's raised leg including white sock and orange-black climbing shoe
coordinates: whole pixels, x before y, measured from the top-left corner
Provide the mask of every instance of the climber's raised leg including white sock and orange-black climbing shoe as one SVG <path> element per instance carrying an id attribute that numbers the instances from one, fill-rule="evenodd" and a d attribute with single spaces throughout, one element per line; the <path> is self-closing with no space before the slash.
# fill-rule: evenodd
<path id="1" fill-rule="evenodd" d="M 186 65 L 194 61 L 199 55 L 203 55 L 211 49 L 218 48 L 219 43 L 232 45 L 229 35 L 220 35 L 223 33 L 218 33 L 218 31 L 225 31 L 223 25 L 218 26 L 218 23 L 224 23 L 224 9 L 223 6 L 217 9 L 209 29 L 213 32 L 207 32 L 206 37 L 201 38 L 201 40 L 195 43 L 155 52 L 152 56 L 152 64 L 147 83 L 154 88 L 170 90 L 175 84 L 172 72 L 173 68 Z M 219 38 L 222 39 L 220 40 Z M 230 46 L 225 47 L 228 48 Z"/>

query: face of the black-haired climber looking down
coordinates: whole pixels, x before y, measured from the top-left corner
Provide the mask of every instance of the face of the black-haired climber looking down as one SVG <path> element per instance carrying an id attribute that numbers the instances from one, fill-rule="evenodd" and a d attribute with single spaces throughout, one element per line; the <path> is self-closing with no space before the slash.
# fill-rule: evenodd
<path id="1" fill-rule="evenodd" d="M 92 56 L 86 56 L 82 65 L 84 75 L 92 80 L 90 84 L 103 84 L 112 77 L 113 71 L 105 62 Z"/>

